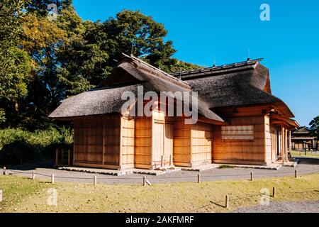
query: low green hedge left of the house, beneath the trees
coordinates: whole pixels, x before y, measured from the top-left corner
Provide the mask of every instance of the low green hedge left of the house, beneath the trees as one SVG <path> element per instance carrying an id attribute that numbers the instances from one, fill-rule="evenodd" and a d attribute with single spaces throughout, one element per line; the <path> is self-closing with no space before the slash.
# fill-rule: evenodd
<path id="1" fill-rule="evenodd" d="M 55 149 L 72 149 L 72 143 L 73 131 L 65 127 L 34 132 L 0 129 L 0 165 L 52 161 Z"/>

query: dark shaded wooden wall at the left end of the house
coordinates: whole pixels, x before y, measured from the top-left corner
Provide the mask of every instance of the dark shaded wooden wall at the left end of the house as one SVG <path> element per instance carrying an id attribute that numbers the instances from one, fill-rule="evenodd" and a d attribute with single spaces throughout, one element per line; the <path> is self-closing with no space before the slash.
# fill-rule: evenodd
<path id="1" fill-rule="evenodd" d="M 74 121 L 74 165 L 117 169 L 120 133 L 119 116 Z"/>

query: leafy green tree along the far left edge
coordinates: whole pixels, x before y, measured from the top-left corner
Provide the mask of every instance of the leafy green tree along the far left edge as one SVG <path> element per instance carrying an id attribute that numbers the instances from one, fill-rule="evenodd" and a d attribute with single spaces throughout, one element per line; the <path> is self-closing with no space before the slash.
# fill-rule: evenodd
<path id="1" fill-rule="evenodd" d="M 28 93 L 31 58 L 21 48 L 20 26 L 24 0 L 3 0 L 0 5 L 0 123 L 18 116 L 18 100 Z"/>

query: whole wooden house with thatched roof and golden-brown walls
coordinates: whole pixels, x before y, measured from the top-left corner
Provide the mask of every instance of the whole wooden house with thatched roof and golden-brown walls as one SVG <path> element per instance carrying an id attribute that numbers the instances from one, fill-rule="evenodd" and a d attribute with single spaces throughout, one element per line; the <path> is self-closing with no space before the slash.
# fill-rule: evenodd
<path id="1" fill-rule="evenodd" d="M 261 60 L 170 75 L 123 55 L 103 84 L 65 99 L 50 118 L 74 121 L 74 165 L 156 169 L 284 162 L 290 130 L 298 123 L 272 94 Z M 123 92 L 138 96 L 139 86 L 144 93 L 198 92 L 198 122 L 186 125 L 185 116 L 167 117 L 157 108 L 150 117 L 122 115 Z"/>

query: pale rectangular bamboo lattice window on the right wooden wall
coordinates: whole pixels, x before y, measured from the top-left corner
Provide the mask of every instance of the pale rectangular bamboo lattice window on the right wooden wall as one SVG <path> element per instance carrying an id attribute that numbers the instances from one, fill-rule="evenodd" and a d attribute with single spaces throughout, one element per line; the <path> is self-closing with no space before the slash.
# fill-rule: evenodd
<path id="1" fill-rule="evenodd" d="M 222 126 L 222 140 L 254 140 L 254 126 Z"/>

